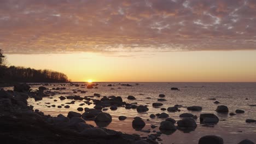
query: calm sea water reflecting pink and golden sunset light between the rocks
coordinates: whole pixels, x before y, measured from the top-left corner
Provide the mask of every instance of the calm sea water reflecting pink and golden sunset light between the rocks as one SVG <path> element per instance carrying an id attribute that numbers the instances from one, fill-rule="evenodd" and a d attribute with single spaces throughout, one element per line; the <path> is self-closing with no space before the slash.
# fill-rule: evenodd
<path id="1" fill-rule="evenodd" d="M 139 134 L 142 136 L 149 135 L 148 133 L 143 133 L 141 131 L 136 131 L 132 128 L 132 120 L 133 117 L 139 116 L 144 119 L 146 122 L 146 127 L 144 130 L 150 129 L 151 131 L 156 130 L 159 131 L 159 127 L 155 129 L 151 129 L 150 125 L 160 125 L 160 122 L 165 119 L 161 118 L 149 118 L 150 114 L 156 114 L 161 112 L 166 112 L 170 115 L 171 118 L 176 119 L 178 121 L 179 115 L 182 113 L 188 112 L 193 115 L 200 116 L 200 113 L 214 113 L 216 114 L 220 120 L 225 119 L 226 121 L 219 121 L 217 125 L 214 127 L 203 127 L 200 125 L 199 118 L 197 119 L 197 128 L 195 131 L 191 131 L 190 133 L 183 133 L 180 130 L 175 131 L 171 135 L 164 135 L 160 137 L 163 141 L 162 143 L 198 143 L 200 137 L 205 135 L 218 135 L 223 137 L 225 143 L 238 143 L 243 139 L 250 139 L 256 142 L 256 124 L 255 123 L 246 123 L 245 120 L 247 118 L 256 119 L 256 107 L 249 106 L 252 104 L 256 104 L 256 83 L 139 83 L 139 85 L 135 85 L 135 83 L 129 83 L 132 87 L 120 86 L 119 82 L 115 83 L 98 83 L 98 89 L 86 89 L 80 87 L 70 87 L 67 86 L 65 92 L 67 94 L 58 94 L 53 96 L 53 99 L 44 98 L 42 101 L 34 101 L 33 99 L 29 99 L 29 105 L 33 105 L 34 109 L 39 109 L 43 111 L 46 115 L 57 116 L 59 113 L 63 115 L 67 115 L 68 111 L 77 111 L 77 107 L 79 104 L 83 103 L 83 101 L 76 101 L 75 104 L 71 104 L 69 109 L 65 109 L 62 107 L 58 109 L 57 107 L 46 107 L 49 105 L 61 105 L 72 100 L 60 100 L 58 97 L 61 95 L 80 95 L 90 96 L 94 93 L 99 93 L 102 96 L 120 96 L 123 98 L 123 101 L 127 103 L 135 103 L 138 105 L 149 105 L 149 111 L 145 113 L 138 113 L 136 110 L 130 109 L 126 110 L 124 107 L 118 107 L 118 110 L 112 111 L 108 110 L 106 112 L 112 115 L 112 123 L 108 125 L 107 128 L 114 129 L 117 131 L 122 131 L 127 134 Z M 124 82 L 122 82 L 124 83 Z M 85 84 L 85 83 L 79 83 Z M 108 87 L 108 84 L 112 84 L 115 86 Z M 48 88 L 53 87 L 63 87 L 59 86 L 60 83 L 56 83 L 56 86 L 46 86 Z M 32 86 L 33 89 L 37 89 L 39 86 Z M 121 89 L 118 89 L 121 87 Z M 178 87 L 181 91 L 171 91 L 171 87 Z M 114 88 L 114 89 L 110 89 Z M 88 91 L 87 93 L 73 93 L 73 89 L 76 90 L 84 90 Z M 140 94 L 144 95 L 140 95 Z M 162 101 L 160 103 L 164 104 L 160 107 L 174 106 L 176 104 L 183 106 L 202 106 L 203 109 L 201 112 L 191 112 L 188 111 L 185 107 L 181 108 L 181 112 L 168 112 L 161 111 L 160 108 L 153 108 L 152 103 L 158 102 L 159 94 L 165 94 L 165 99 L 167 101 Z M 128 100 L 127 96 L 133 95 L 137 99 L 136 100 Z M 152 99 L 146 99 L 146 97 L 150 97 Z M 218 105 L 214 104 L 215 100 L 209 100 L 208 98 L 216 98 L 220 105 L 226 105 L 229 107 L 230 112 L 235 112 L 236 109 L 245 110 L 245 113 L 237 114 L 235 116 L 229 116 L 225 114 L 218 114 L 216 108 Z M 248 98 L 248 100 L 246 100 Z M 57 99 L 58 101 L 54 102 L 53 100 Z M 82 107 L 94 107 L 94 105 L 84 105 Z M 83 113 L 83 112 L 81 112 Z M 127 119 L 125 121 L 119 121 L 119 116 L 126 116 Z M 146 121 L 146 119 L 150 119 L 150 121 Z M 92 121 L 86 121 L 86 123 L 96 125 Z M 151 132 L 153 133 L 153 132 Z"/>

